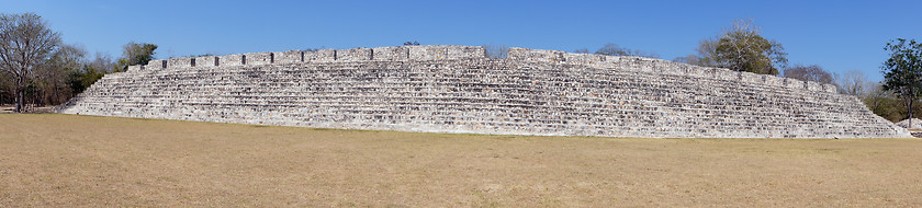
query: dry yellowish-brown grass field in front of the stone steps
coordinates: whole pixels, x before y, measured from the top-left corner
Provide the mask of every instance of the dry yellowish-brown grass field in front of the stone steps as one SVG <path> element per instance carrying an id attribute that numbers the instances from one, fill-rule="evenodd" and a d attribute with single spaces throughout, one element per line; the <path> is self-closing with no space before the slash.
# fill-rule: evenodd
<path id="1" fill-rule="evenodd" d="M 922 140 L 612 139 L 0 114 L 0 207 L 920 207 Z"/>

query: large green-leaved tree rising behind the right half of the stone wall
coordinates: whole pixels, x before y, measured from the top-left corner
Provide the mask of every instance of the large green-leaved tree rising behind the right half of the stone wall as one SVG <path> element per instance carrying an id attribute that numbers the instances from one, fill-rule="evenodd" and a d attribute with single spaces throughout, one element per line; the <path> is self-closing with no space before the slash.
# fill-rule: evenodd
<path id="1" fill-rule="evenodd" d="M 761 28 L 753 25 L 751 20 L 738 20 L 719 36 L 699 42 L 695 49 L 697 55 L 681 57 L 676 61 L 778 74 L 778 69 L 787 65 L 787 53 L 784 49 L 780 43 L 762 37 Z"/>

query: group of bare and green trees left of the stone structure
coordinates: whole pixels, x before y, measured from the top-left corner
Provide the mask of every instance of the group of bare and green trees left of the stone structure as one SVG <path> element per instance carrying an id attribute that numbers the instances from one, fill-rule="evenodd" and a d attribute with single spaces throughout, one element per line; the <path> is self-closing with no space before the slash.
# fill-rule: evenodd
<path id="1" fill-rule="evenodd" d="M 83 92 L 105 73 L 146 63 L 156 45 L 128 43 L 122 57 L 87 50 L 61 42 L 60 33 L 34 13 L 0 14 L 0 105 L 15 104 L 16 112 L 30 106 L 59 105 Z"/>

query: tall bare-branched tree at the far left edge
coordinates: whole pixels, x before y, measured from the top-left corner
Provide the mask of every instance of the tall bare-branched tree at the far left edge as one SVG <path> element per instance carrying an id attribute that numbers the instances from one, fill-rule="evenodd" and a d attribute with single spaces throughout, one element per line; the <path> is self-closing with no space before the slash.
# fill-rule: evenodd
<path id="1" fill-rule="evenodd" d="M 36 66 L 60 44 L 60 34 L 34 13 L 0 14 L 0 70 L 14 79 L 16 112 L 22 112 L 25 86 Z"/>

